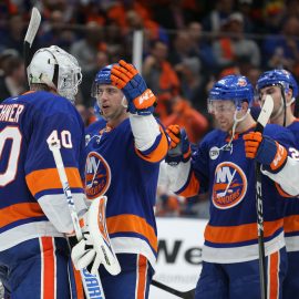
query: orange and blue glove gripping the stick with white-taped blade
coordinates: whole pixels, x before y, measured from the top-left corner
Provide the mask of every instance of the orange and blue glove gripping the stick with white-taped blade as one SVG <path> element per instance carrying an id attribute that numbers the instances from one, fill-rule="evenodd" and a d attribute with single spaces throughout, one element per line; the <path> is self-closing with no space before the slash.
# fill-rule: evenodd
<path id="1" fill-rule="evenodd" d="M 287 150 L 278 142 L 260 132 L 250 132 L 244 135 L 245 154 L 248 158 L 256 158 L 266 169 L 277 173 L 286 164 Z"/>

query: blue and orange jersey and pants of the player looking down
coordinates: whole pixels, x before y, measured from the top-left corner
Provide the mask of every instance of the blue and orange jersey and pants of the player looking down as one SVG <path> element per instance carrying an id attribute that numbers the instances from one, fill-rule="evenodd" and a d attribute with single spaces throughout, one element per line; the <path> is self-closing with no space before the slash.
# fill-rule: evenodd
<path id="1" fill-rule="evenodd" d="M 225 148 L 228 133 L 214 130 L 198 145 L 190 164 L 183 165 L 187 179 L 176 181 L 179 195 L 189 197 L 206 192 L 210 195 L 198 298 L 260 298 L 255 163 L 246 158 L 243 140 L 252 131 L 237 134 L 231 146 Z M 292 134 L 281 126 L 267 125 L 264 134 L 286 148 L 293 146 Z M 287 199 L 281 198 L 276 183 L 268 176 L 262 176 L 261 186 L 268 298 L 282 298 L 287 271 L 283 238 Z"/>

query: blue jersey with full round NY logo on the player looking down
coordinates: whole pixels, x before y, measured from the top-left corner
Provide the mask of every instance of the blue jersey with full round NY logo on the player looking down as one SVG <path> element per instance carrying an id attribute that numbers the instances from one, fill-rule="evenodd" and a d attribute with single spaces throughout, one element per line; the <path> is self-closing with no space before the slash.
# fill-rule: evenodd
<path id="1" fill-rule="evenodd" d="M 245 156 L 243 135 L 247 132 L 235 136 L 231 148 L 224 148 L 227 133 L 215 130 L 207 134 L 193 155 L 188 181 L 177 192 L 184 196 L 209 192 L 205 261 L 226 264 L 258 259 L 255 162 Z M 264 134 L 287 148 L 293 146 L 293 136 L 281 126 L 267 125 Z M 262 175 L 261 194 L 268 256 L 285 246 L 285 199 L 276 183 L 266 175 Z"/>

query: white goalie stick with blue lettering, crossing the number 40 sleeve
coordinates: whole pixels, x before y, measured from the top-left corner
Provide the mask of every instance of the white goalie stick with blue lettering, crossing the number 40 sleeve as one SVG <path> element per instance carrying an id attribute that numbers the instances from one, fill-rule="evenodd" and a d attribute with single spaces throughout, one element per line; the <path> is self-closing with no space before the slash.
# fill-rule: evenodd
<path id="1" fill-rule="evenodd" d="M 59 178 L 60 178 L 63 192 L 64 192 L 65 199 L 68 202 L 71 218 L 73 221 L 75 236 L 76 236 L 76 239 L 80 241 L 83 238 L 83 235 L 82 235 L 82 230 L 80 227 L 78 214 L 75 210 L 71 188 L 70 188 L 68 177 L 65 174 L 65 168 L 63 165 L 62 156 L 60 153 L 60 143 L 58 143 L 55 141 L 53 142 L 50 140 L 50 141 L 48 141 L 48 144 L 49 144 L 49 148 L 52 152 L 54 161 L 55 161 L 55 165 L 56 165 L 56 168 L 59 172 Z M 81 278 L 82 278 L 82 282 L 83 282 L 86 298 L 87 299 L 105 299 L 105 295 L 103 291 L 103 287 L 102 287 L 99 274 L 93 276 L 86 269 L 82 269 L 80 271 L 80 274 L 81 274 Z"/>

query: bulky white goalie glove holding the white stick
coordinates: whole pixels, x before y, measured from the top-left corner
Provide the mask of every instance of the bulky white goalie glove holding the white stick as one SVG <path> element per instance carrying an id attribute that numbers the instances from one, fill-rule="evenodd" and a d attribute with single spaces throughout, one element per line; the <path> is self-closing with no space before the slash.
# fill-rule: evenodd
<path id="1" fill-rule="evenodd" d="M 95 275 L 101 264 L 112 275 L 121 271 L 118 260 L 110 243 L 105 225 L 106 197 L 94 199 L 84 215 L 83 239 L 72 249 L 72 260 L 78 270 L 86 268 Z"/>

